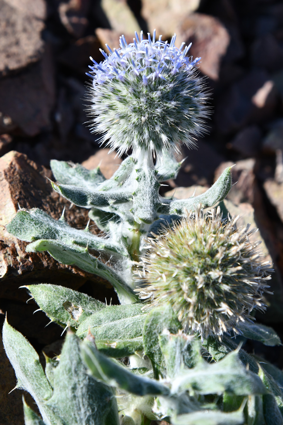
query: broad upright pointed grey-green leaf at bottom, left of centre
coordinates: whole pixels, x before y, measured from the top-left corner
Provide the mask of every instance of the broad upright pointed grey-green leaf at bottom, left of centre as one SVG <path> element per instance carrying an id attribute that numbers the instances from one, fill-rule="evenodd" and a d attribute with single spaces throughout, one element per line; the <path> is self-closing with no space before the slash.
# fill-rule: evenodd
<path id="1" fill-rule="evenodd" d="M 79 338 L 71 332 L 53 374 L 53 395 L 45 405 L 64 425 L 119 425 L 112 389 L 89 376 L 81 360 Z"/>

